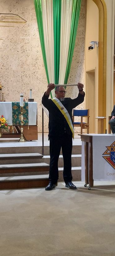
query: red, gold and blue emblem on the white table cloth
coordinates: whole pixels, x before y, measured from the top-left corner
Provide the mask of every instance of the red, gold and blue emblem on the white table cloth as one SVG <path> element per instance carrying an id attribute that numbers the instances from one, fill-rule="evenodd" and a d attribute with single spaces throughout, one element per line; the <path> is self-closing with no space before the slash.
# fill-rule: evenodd
<path id="1" fill-rule="evenodd" d="M 115 141 L 107 147 L 102 157 L 115 169 Z"/>

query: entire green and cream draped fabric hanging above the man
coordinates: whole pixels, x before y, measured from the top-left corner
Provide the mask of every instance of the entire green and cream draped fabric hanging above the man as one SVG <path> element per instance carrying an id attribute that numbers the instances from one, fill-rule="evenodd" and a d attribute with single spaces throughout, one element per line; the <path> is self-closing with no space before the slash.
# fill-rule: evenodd
<path id="1" fill-rule="evenodd" d="M 34 0 L 48 83 L 67 84 L 81 0 Z M 55 91 L 51 92 L 51 98 Z"/>

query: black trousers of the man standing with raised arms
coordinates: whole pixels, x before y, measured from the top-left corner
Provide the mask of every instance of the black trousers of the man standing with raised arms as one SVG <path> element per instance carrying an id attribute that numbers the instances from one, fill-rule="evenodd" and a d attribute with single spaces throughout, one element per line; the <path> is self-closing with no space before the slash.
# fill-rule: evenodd
<path id="1" fill-rule="evenodd" d="M 72 153 L 72 135 L 64 133 L 61 137 L 50 137 L 50 165 L 49 165 L 49 180 L 56 184 L 58 181 L 58 159 L 62 147 L 63 155 L 63 179 L 65 183 L 72 181 L 71 174 L 71 153 Z"/>

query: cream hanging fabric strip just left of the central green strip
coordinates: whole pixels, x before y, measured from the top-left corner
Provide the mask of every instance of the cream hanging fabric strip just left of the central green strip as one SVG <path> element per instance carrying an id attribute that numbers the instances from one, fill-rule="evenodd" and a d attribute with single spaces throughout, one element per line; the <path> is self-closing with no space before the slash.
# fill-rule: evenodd
<path id="1" fill-rule="evenodd" d="M 42 14 L 49 82 L 54 83 L 53 0 L 42 0 Z M 52 96 L 55 97 L 54 90 Z"/>

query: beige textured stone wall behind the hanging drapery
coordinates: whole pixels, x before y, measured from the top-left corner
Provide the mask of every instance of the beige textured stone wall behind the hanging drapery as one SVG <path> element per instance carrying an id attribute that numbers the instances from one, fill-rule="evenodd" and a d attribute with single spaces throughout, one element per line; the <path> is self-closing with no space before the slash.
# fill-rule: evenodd
<path id="1" fill-rule="evenodd" d="M 39 32 L 33 0 L 0 0 L 0 83 L 6 101 L 25 99 L 32 89 L 38 103 L 38 132 L 42 132 L 41 98 L 47 89 L 47 79 L 41 52 Z M 68 83 L 85 81 L 85 0 L 81 3 L 76 45 Z M 0 91 L 0 99 L 2 99 Z M 76 87 L 67 87 L 67 97 L 78 95 Z M 84 108 L 84 103 L 79 106 Z M 76 128 L 77 129 L 77 128 Z M 48 118 L 44 114 L 44 132 L 48 132 Z"/>

